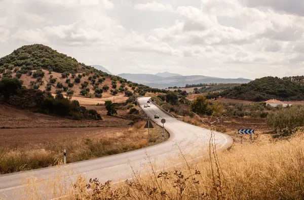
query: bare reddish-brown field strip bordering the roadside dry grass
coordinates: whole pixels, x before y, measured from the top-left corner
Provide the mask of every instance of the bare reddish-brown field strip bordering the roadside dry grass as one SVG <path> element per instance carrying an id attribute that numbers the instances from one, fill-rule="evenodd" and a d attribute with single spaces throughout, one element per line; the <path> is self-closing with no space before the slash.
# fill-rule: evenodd
<path id="1" fill-rule="evenodd" d="M 10 149 L 39 149 L 54 143 L 65 143 L 86 138 L 100 139 L 106 134 L 116 134 L 128 128 L 26 128 L 0 130 L 0 146 Z"/>

